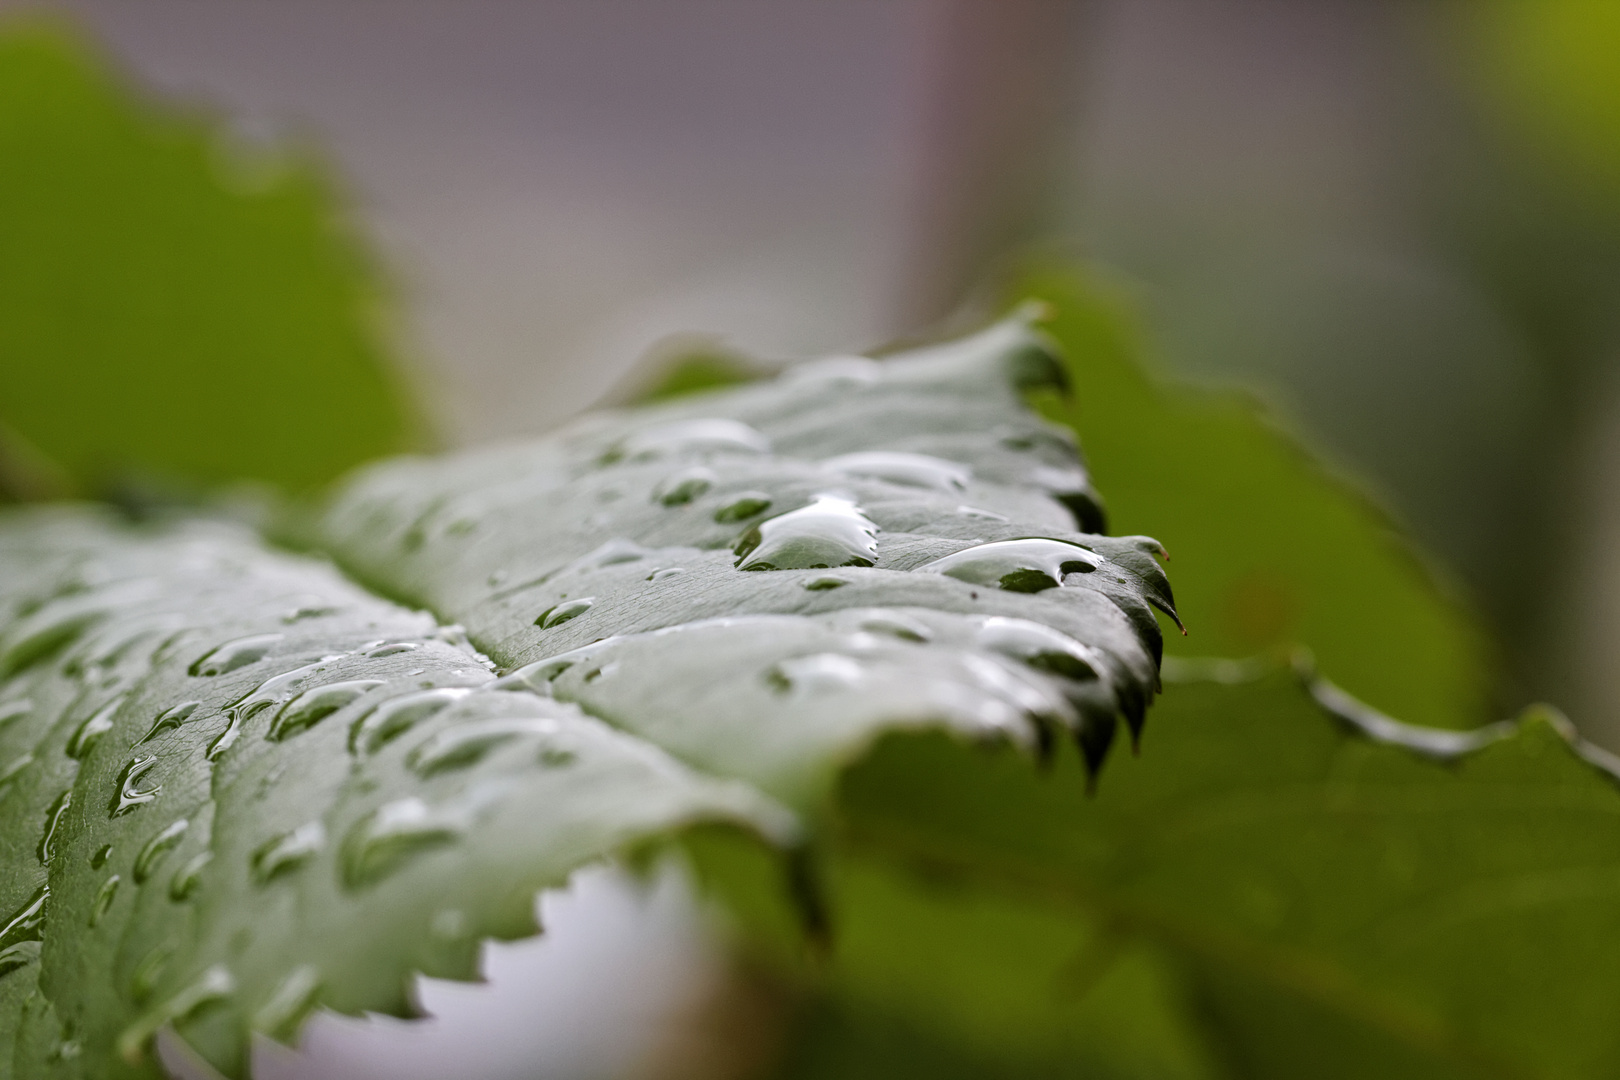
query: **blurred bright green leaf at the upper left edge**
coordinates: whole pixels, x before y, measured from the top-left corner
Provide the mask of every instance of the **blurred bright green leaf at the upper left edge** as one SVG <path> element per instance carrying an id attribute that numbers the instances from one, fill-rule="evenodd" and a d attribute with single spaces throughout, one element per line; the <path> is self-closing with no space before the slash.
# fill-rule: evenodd
<path id="1" fill-rule="evenodd" d="M 311 165 L 233 147 L 23 23 L 0 31 L 0 206 L 13 494 L 298 489 L 420 442 L 377 274 Z"/>

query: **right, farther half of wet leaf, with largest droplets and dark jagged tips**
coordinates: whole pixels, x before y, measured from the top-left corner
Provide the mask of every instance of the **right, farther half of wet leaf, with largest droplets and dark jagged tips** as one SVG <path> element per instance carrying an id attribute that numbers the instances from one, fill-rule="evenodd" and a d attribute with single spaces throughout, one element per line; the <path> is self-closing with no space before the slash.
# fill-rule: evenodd
<path id="1" fill-rule="evenodd" d="M 382 463 L 308 539 L 463 623 L 510 683 L 794 806 L 897 725 L 1037 750 L 1068 729 L 1095 767 L 1116 717 L 1142 722 L 1173 604 L 1157 542 L 1076 531 L 1100 513 L 1072 439 L 1019 398 L 1056 384 L 1021 316 Z"/>

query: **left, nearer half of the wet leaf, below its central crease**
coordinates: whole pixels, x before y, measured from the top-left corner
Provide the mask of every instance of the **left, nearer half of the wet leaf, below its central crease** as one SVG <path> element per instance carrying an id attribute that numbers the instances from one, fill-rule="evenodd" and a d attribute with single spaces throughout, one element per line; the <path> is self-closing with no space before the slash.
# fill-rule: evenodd
<path id="1" fill-rule="evenodd" d="M 219 523 L 0 518 L 0 1061 L 152 1075 L 165 1023 L 240 1075 L 316 1006 L 405 1015 L 535 892 L 713 821 L 791 814 L 457 628 Z"/>

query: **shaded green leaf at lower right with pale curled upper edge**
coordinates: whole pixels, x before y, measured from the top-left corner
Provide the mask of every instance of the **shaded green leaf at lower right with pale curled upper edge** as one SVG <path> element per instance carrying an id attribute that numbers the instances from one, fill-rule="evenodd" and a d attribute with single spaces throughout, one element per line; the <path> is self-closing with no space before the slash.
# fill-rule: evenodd
<path id="1" fill-rule="evenodd" d="M 1119 993 L 1110 980 L 1157 965 L 1166 989 L 1136 1015 L 1179 1015 L 1230 1075 L 1614 1074 L 1612 759 L 1544 709 L 1455 733 L 1264 665 L 1170 674 L 1186 682 L 1168 687 L 1140 759 L 1111 766 L 1092 800 L 1071 756 L 1035 777 L 932 738 L 855 766 L 844 858 L 888 881 L 852 878 L 831 904 L 889 913 L 886 934 L 836 957 L 839 996 L 1016 1064 L 1064 1023 L 1095 1023 L 1108 1006 L 1095 996 Z M 896 866 L 914 870 L 909 895 Z M 1047 933 L 1056 955 L 941 962 L 940 942 L 1011 933 L 1013 918 L 975 915 L 996 904 L 1074 929 Z M 928 912 L 933 952 L 901 929 Z M 1081 981 L 1068 1001 L 1063 968 Z M 1045 1010 L 1043 1035 L 974 1023 L 1006 1007 L 988 986 L 1024 988 L 1013 1001 L 1025 1018 Z M 1225 1075 L 1209 1061 L 1119 1075 Z"/>

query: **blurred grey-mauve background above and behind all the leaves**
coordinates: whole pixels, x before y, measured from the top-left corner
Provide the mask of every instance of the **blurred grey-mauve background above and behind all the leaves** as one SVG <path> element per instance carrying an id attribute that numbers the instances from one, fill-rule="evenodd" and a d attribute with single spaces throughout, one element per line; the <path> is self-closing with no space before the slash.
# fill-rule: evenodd
<path id="1" fill-rule="evenodd" d="M 330 160 L 450 444 L 1084 257 L 1160 372 L 1260 395 L 1393 510 L 1495 633 L 1500 711 L 1620 750 L 1620 5 L 21 10 Z"/>

